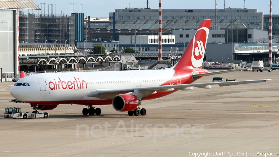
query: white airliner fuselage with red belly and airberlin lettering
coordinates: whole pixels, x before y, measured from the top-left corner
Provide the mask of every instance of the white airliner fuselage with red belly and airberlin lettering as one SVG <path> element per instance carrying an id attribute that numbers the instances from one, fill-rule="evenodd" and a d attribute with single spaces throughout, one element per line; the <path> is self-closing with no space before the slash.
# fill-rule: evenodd
<path id="1" fill-rule="evenodd" d="M 108 105 L 112 100 L 87 96 L 96 90 L 126 89 L 192 83 L 195 69 L 183 70 L 135 70 L 77 73 L 36 74 L 20 79 L 17 83 L 30 86 L 13 86 L 11 93 L 20 101 L 40 105 L 80 104 Z M 196 69 L 200 73 L 207 70 Z M 155 99 L 175 92 L 157 92 L 144 98 Z M 21 96 L 19 96 L 21 95 Z M 22 96 L 24 95 L 24 96 Z"/>

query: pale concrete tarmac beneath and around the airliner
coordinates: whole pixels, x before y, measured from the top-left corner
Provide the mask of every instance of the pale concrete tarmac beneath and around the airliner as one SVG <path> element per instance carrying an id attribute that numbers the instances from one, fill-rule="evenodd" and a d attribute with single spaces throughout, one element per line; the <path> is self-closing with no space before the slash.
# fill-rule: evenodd
<path id="1" fill-rule="evenodd" d="M 143 101 L 139 107 L 147 110 L 145 116 L 128 116 L 111 105 L 97 106 L 99 116 L 83 116 L 85 106 L 66 104 L 47 111 L 47 119 L 4 119 L 7 106 L 32 110 L 30 104 L 9 102 L 14 83 L 0 82 L 0 156 L 277 155 L 278 76 L 279 70 L 206 76 L 195 83 L 213 77 L 272 81 L 178 91 Z"/>

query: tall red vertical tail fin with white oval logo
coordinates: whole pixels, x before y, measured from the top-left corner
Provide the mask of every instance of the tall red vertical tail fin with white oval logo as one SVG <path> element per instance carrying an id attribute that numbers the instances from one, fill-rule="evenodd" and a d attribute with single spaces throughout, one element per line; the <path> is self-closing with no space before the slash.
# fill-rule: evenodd
<path id="1" fill-rule="evenodd" d="M 184 54 L 178 63 L 173 67 L 174 70 L 201 68 L 210 25 L 211 19 L 203 20 L 201 22 L 201 25 L 197 29 L 197 32 L 193 36 L 191 42 L 188 44 Z"/>

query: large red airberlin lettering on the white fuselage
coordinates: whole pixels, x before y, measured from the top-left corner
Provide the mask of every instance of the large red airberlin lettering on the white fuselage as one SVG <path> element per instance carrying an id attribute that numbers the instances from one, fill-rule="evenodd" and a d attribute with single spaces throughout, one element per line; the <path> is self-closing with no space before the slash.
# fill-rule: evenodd
<path id="1" fill-rule="evenodd" d="M 61 89 L 83 89 L 87 88 L 87 83 L 84 80 L 79 80 L 79 78 L 73 77 L 73 81 L 62 81 L 60 78 L 58 78 L 58 82 L 56 82 L 55 79 L 54 81 L 50 81 L 48 83 L 48 87 L 50 90 L 60 90 Z"/>

